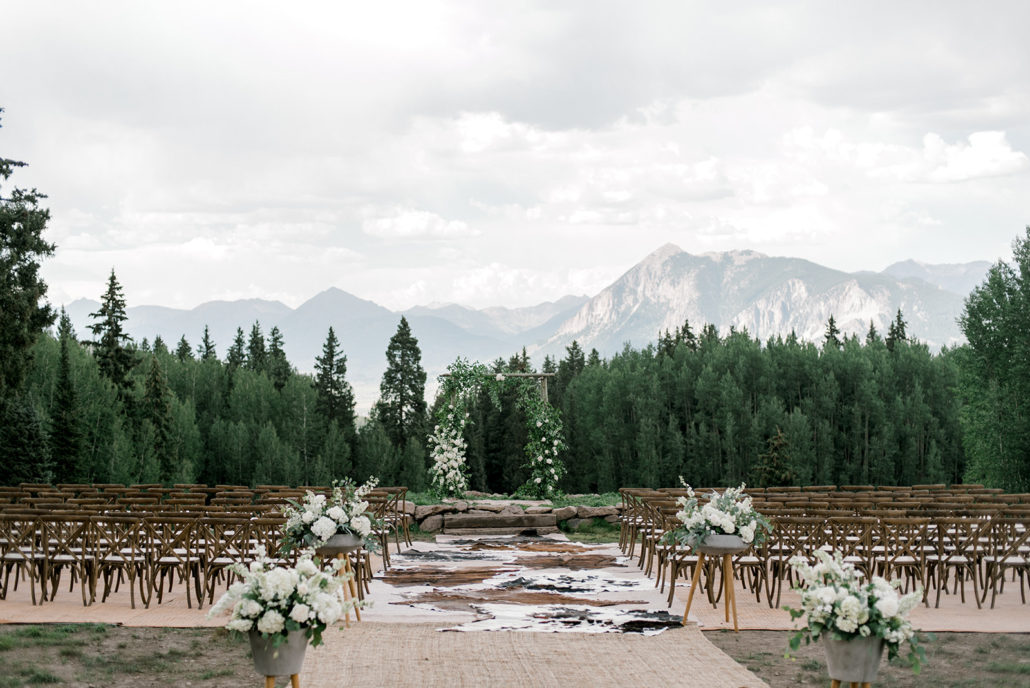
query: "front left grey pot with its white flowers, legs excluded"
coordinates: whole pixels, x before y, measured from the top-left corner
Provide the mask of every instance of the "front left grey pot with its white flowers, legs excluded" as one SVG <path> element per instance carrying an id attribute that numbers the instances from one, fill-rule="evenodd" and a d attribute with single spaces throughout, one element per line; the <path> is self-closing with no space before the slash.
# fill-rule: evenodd
<path id="1" fill-rule="evenodd" d="M 346 576 L 337 574 L 342 562 L 322 571 L 310 552 L 297 566 L 275 565 L 259 547 L 250 566 L 233 564 L 239 581 L 208 612 L 229 614 L 226 627 L 250 637 L 254 668 L 263 676 L 299 674 L 310 642 L 318 646 L 322 631 L 365 603 L 347 599 Z"/>

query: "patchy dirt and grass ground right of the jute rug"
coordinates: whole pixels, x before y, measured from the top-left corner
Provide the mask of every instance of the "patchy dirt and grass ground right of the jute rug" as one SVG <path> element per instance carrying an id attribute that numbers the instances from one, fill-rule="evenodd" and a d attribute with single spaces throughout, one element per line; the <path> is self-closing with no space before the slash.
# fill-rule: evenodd
<path id="1" fill-rule="evenodd" d="M 785 658 L 792 633 L 783 630 L 715 630 L 705 638 L 771 688 L 829 685 L 819 644 L 801 645 Z M 935 633 L 918 676 L 898 658 L 880 665 L 877 688 L 1030 688 L 1030 633 Z"/>

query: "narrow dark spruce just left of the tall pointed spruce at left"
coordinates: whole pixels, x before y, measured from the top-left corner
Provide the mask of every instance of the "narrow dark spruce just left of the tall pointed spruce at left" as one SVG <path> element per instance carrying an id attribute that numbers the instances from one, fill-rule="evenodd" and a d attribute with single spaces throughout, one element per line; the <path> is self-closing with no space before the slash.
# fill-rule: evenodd
<path id="1" fill-rule="evenodd" d="M 79 424 L 78 399 L 68 359 L 68 347 L 73 342 L 70 330 L 71 319 L 62 308 L 59 328 L 61 357 L 54 387 L 54 408 L 50 410 L 50 455 L 57 482 L 78 482 L 84 478 L 80 466 L 82 429 Z"/>

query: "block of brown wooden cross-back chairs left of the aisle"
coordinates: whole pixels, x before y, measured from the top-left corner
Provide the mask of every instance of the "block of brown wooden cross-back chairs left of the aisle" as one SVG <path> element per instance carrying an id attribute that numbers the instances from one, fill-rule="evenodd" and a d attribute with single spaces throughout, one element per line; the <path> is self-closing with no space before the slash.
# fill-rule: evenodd
<path id="1" fill-rule="evenodd" d="M 375 490 L 370 510 L 382 523 L 375 537 L 384 565 L 389 565 L 389 540 L 398 551 L 401 540 L 411 544 L 405 512 L 407 488 Z M 168 502 L 76 503 L 0 508 L 0 598 L 27 581 L 33 604 L 53 599 L 66 577 L 77 584 L 83 605 L 98 594 L 107 599 L 128 582 L 135 609 L 137 594 L 148 607 L 161 604 L 175 581 L 185 585 L 186 604 L 213 598 L 217 585 L 228 583 L 229 565 L 248 564 L 258 546 L 273 555 L 284 522 L 275 505 L 201 505 Z M 352 569 L 364 597 L 372 578 L 372 559 L 364 549 L 352 555 Z M 287 560 L 293 563 L 294 560 Z M 102 590 L 98 587 L 102 584 Z"/>

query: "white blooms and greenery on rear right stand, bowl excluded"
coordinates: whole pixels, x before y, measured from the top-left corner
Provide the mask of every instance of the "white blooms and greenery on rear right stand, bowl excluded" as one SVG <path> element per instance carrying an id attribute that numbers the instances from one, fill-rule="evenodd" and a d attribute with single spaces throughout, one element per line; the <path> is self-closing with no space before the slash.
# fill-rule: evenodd
<path id="1" fill-rule="evenodd" d="M 677 500 L 680 510 L 676 517 L 683 524 L 674 534 L 677 540 L 695 544 L 705 542 L 713 534 L 735 534 L 750 545 L 756 538 L 760 542 L 768 534 L 769 524 L 755 511 L 751 497 L 744 494 L 744 484 L 727 488 L 722 494 L 713 491 L 706 495 L 708 501 L 703 505 L 699 505 L 690 485 L 684 485 L 687 496 Z"/>

